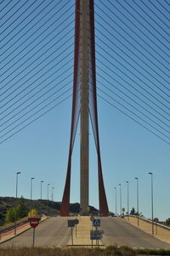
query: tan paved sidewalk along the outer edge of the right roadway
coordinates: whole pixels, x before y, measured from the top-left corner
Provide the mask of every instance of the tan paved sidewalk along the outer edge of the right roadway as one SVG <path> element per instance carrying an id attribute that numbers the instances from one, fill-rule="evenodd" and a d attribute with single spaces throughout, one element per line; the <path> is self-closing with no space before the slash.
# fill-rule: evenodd
<path id="1" fill-rule="evenodd" d="M 127 217 L 125 217 L 125 220 L 127 222 L 129 222 L 130 224 L 138 227 L 138 218 L 137 217 L 129 216 L 129 221 L 128 221 Z M 144 232 L 152 235 L 152 223 L 150 223 L 147 220 L 139 218 L 139 229 L 144 230 Z M 166 227 L 163 228 L 160 225 L 154 224 L 154 235 L 153 236 L 155 236 L 158 239 L 161 239 L 164 242 L 170 243 L 170 230 L 168 230 Z"/>

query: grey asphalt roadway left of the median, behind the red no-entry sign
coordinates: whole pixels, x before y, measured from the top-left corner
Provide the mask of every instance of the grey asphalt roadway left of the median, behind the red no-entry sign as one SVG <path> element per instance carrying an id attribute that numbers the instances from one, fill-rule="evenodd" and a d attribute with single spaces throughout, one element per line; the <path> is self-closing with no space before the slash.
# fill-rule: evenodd
<path id="1" fill-rule="evenodd" d="M 4 242 L 0 247 L 31 247 L 33 229 L 26 230 L 20 236 Z M 58 247 L 64 246 L 71 237 L 71 230 L 67 226 L 67 218 L 54 217 L 45 220 L 37 226 L 35 232 L 35 246 Z"/>

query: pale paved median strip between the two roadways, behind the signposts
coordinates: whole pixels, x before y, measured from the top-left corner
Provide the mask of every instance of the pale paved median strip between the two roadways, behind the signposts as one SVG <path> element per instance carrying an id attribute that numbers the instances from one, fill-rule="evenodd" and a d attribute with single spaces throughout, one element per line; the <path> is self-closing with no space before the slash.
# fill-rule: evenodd
<path id="1" fill-rule="evenodd" d="M 92 222 L 90 221 L 90 216 L 81 216 L 77 219 L 79 220 L 79 224 L 77 225 L 77 231 L 76 227 L 73 230 L 73 246 L 91 247 L 92 241 L 90 240 L 90 230 L 92 230 Z M 93 245 L 96 246 L 96 241 L 93 242 Z M 72 246 L 71 239 L 67 246 Z M 99 246 L 103 246 L 101 241 L 99 241 Z"/>

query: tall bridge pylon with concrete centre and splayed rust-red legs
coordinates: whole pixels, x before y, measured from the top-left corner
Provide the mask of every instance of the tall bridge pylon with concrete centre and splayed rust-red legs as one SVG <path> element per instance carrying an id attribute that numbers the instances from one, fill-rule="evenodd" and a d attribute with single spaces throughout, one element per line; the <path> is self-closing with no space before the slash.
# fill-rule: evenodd
<path id="1" fill-rule="evenodd" d="M 105 196 L 99 149 L 99 127 L 96 94 L 94 0 L 76 0 L 74 82 L 71 115 L 71 140 L 65 180 L 65 191 L 60 215 L 69 215 L 71 189 L 71 155 L 80 117 L 80 207 L 82 215 L 88 214 L 89 205 L 89 119 L 92 122 L 98 156 L 99 212 L 109 213 Z"/>

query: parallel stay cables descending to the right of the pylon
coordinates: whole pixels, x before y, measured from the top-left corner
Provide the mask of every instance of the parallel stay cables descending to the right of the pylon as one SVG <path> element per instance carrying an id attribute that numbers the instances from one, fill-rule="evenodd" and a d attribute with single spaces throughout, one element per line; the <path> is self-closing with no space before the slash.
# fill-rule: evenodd
<path id="1" fill-rule="evenodd" d="M 98 94 L 170 145 L 170 33 L 157 2 L 95 3 Z"/>

